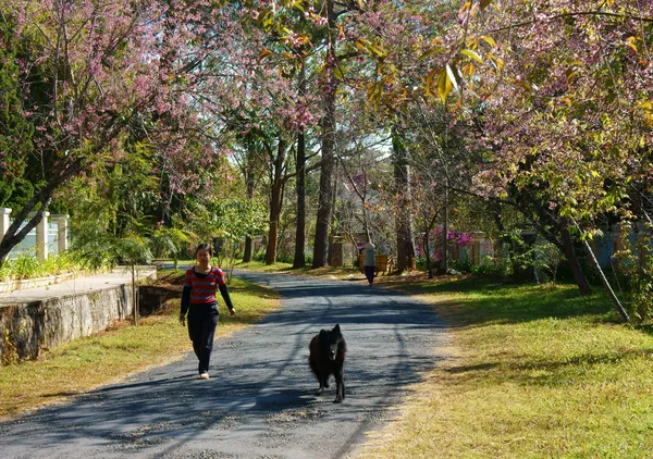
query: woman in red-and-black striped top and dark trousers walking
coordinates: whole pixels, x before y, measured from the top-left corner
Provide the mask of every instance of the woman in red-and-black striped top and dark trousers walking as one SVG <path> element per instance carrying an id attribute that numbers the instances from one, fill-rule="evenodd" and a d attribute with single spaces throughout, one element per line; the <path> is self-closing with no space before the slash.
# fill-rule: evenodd
<path id="1" fill-rule="evenodd" d="M 200 244 L 197 247 L 195 251 L 197 264 L 186 271 L 182 311 L 180 312 L 182 325 L 186 324 L 186 313 L 188 313 L 188 336 L 199 360 L 197 370 L 200 380 L 209 379 L 209 361 L 213 350 L 213 336 L 219 317 L 217 289 L 220 289 L 230 315 L 236 313 L 224 282 L 224 273 L 220 268 L 209 264 L 212 255 L 213 250 L 210 245 Z"/>

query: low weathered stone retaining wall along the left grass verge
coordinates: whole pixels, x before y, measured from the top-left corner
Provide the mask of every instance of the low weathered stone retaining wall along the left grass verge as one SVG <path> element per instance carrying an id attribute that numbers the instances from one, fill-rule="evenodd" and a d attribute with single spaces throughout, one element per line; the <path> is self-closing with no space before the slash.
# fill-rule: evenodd
<path id="1" fill-rule="evenodd" d="M 88 294 L 0 306 L 1 361 L 36 359 L 42 350 L 101 332 L 132 311 L 128 284 Z"/>

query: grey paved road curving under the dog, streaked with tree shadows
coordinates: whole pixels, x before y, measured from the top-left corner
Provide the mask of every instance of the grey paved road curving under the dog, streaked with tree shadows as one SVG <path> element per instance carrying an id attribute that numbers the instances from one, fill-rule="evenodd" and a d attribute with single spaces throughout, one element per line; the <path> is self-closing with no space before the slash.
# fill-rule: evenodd
<path id="1" fill-rule="evenodd" d="M 342 458 L 440 359 L 443 324 L 402 294 L 359 282 L 237 276 L 279 290 L 282 308 L 215 343 L 211 380 L 197 380 L 188 355 L 0 424 L 0 457 Z M 332 402 L 335 384 L 313 395 L 307 363 L 310 338 L 336 323 L 349 349 L 343 404 Z"/>

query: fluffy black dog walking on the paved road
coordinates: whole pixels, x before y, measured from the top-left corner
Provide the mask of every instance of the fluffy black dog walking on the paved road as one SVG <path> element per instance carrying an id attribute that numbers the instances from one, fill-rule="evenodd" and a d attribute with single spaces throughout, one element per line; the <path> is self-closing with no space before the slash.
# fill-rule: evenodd
<path id="1" fill-rule="evenodd" d="M 335 400 L 340 404 L 345 399 L 345 355 L 347 345 L 340 330 L 340 324 L 335 325 L 331 332 L 321 330 L 308 346 L 308 364 L 320 383 L 317 395 L 322 395 L 324 387 L 329 387 L 329 376 L 335 376 Z"/>

